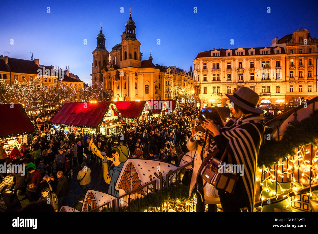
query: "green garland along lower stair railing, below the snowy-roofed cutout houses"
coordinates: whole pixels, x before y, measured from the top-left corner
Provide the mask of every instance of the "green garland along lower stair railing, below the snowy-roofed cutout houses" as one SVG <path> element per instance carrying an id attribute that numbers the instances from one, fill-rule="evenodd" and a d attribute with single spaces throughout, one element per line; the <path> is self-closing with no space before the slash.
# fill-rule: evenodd
<path id="1" fill-rule="evenodd" d="M 173 201 L 187 201 L 189 189 L 189 186 L 183 184 L 170 186 L 169 188 L 163 188 L 156 191 L 156 193 L 149 193 L 147 196 L 131 201 L 125 208 L 104 208 L 102 212 L 143 212 L 145 209 L 161 207 L 162 204 L 170 199 Z M 194 195 L 195 192 L 193 191 L 190 198 L 193 199 Z"/>

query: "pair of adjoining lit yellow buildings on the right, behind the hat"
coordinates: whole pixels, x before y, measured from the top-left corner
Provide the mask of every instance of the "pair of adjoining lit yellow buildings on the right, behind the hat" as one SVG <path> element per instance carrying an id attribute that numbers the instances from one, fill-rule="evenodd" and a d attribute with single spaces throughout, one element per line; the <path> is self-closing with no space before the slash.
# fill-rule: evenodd
<path id="1" fill-rule="evenodd" d="M 307 44 L 300 39 L 307 39 Z M 307 30 L 297 30 L 280 40 L 275 38 L 269 47 L 214 48 L 198 53 L 193 60 L 196 106 L 228 107 L 225 94 L 242 86 L 259 94 L 258 106 L 310 100 L 317 96 L 317 45 Z"/>

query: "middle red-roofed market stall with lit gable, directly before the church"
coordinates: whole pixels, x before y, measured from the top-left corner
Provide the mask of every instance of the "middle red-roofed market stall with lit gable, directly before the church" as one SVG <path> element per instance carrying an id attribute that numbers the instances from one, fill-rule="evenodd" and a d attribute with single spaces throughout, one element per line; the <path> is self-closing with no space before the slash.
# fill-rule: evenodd
<path id="1" fill-rule="evenodd" d="M 148 101 L 120 101 L 115 105 L 126 123 L 139 124 L 153 116 Z"/>

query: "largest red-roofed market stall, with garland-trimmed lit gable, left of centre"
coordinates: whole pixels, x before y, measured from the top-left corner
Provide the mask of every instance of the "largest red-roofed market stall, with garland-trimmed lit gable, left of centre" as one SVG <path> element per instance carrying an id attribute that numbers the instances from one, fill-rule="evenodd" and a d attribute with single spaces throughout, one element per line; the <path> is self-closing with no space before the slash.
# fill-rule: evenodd
<path id="1" fill-rule="evenodd" d="M 120 113 L 114 112 L 112 102 L 65 103 L 51 118 L 50 122 L 57 130 L 74 130 L 75 134 L 87 131 L 100 132 L 107 137 L 118 135 L 124 125 Z"/>

